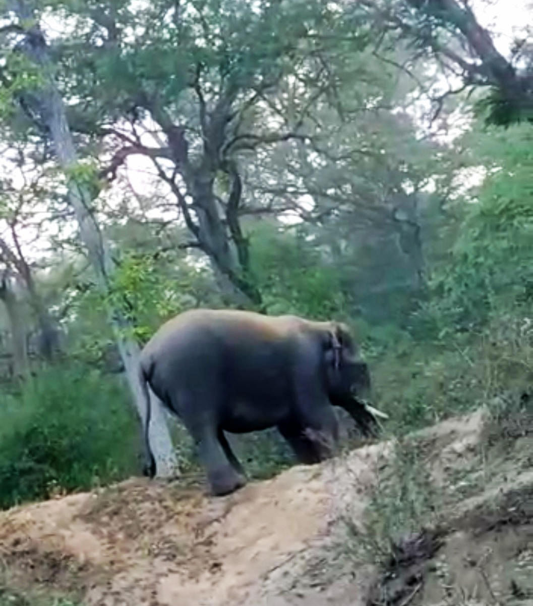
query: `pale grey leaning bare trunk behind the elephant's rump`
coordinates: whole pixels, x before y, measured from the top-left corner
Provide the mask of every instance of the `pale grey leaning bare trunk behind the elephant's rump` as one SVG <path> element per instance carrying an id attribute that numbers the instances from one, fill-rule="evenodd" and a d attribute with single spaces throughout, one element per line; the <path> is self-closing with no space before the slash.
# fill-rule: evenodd
<path id="1" fill-rule="evenodd" d="M 24 2 L 14 2 L 14 10 L 22 20 L 31 21 L 30 7 Z M 48 55 L 44 36 L 38 27 L 28 30 L 25 39 L 25 51 L 30 59 L 42 68 L 45 85 L 39 92 L 41 119 L 50 133 L 56 151 L 57 160 L 68 178 L 68 202 L 74 210 L 79 224 L 80 236 L 88 251 L 91 264 L 97 276 L 100 290 L 106 294 L 110 289 L 110 280 L 114 272 L 114 264 L 103 239 L 99 225 L 91 210 L 92 196 L 83 182 L 72 176 L 76 167 L 77 155 L 70 127 L 65 114 L 65 106 L 53 76 L 53 66 Z M 126 378 L 132 391 L 137 411 L 141 419 L 145 416 L 145 404 L 142 388 L 139 382 L 137 368 L 140 348 L 134 339 L 128 336 L 131 328 L 128 320 L 119 309 L 110 309 L 110 321 L 114 328 L 120 356 L 124 364 Z M 150 392 L 152 400 L 152 416 L 150 423 L 150 441 L 155 457 L 158 476 L 170 476 L 177 471 L 177 459 L 172 439 L 166 424 L 165 411 L 158 398 Z"/>

